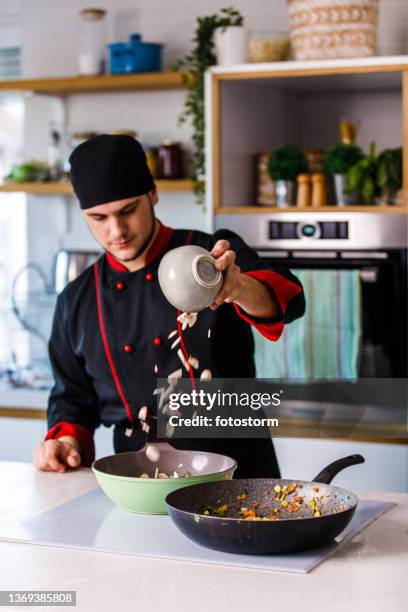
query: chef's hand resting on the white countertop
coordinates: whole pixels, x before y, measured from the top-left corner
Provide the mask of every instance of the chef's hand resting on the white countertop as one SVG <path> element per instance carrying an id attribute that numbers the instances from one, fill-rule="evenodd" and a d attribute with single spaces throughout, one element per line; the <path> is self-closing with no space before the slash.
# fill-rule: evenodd
<path id="1" fill-rule="evenodd" d="M 61 436 L 58 440 L 46 440 L 37 446 L 33 463 L 45 472 L 65 472 L 67 468 L 81 465 L 81 447 L 72 436 Z"/>

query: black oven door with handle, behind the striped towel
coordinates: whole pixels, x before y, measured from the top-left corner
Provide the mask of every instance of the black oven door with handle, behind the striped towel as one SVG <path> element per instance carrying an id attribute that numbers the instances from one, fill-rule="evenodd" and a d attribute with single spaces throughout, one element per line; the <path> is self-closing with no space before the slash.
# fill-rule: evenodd
<path id="1" fill-rule="evenodd" d="M 362 288 L 360 378 L 405 378 L 407 366 L 407 252 L 258 250 L 275 269 L 358 270 Z M 296 272 L 295 272 L 296 273 Z"/>

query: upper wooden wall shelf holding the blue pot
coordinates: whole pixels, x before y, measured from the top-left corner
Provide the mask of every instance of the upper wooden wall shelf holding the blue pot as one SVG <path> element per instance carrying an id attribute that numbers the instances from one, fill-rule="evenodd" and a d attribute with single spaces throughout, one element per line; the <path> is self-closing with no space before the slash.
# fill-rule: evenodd
<path id="1" fill-rule="evenodd" d="M 0 94 L 1 92 L 28 91 L 49 95 L 68 95 L 88 92 L 183 88 L 183 78 L 180 72 L 143 72 L 138 74 L 0 81 Z"/>

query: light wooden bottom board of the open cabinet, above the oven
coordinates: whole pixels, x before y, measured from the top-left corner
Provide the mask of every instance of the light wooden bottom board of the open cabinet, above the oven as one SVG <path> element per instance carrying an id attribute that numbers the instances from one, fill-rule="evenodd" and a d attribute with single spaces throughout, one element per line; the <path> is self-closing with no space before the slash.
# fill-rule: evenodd
<path id="1" fill-rule="evenodd" d="M 405 206 L 316 206 L 316 207 L 300 207 L 291 206 L 288 208 L 278 208 L 277 206 L 220 206 L 215 209 L 217 215 L 253 215 L 265 213 L 316 213 L 316 212 L 376 212 L 376 213 L 394 213 L 407 214 L 408 208 Z"/>

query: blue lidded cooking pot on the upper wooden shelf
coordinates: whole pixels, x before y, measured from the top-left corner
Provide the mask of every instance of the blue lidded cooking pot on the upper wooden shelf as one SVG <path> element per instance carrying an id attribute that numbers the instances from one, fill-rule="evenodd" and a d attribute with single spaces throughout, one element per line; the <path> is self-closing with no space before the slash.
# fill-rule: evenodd
<path id="1" fill-rule="evenodd" d="M 140 34 L 132 34 L 130 42 L 108 45 L 110 73 L 160 72 L 162 46 L 142 42 Z"/>

